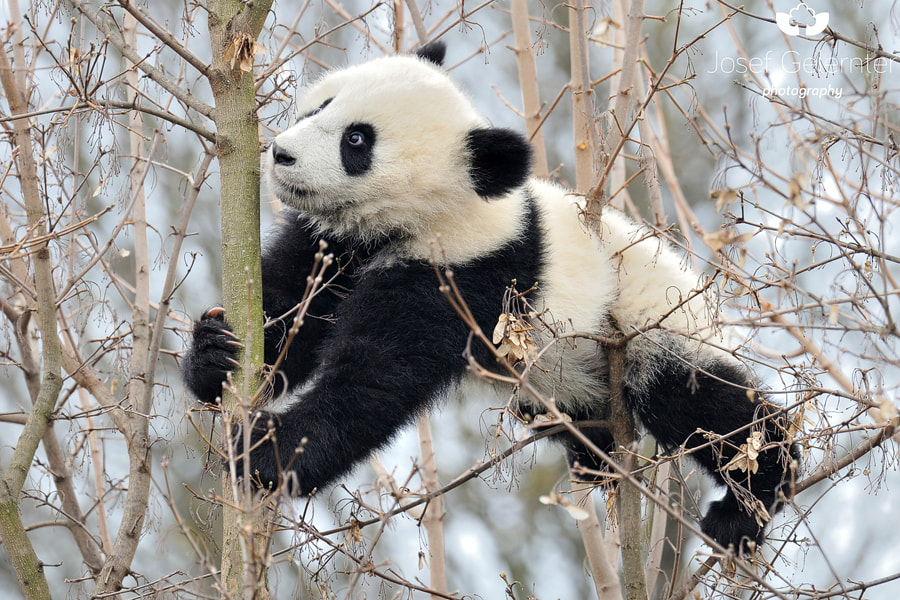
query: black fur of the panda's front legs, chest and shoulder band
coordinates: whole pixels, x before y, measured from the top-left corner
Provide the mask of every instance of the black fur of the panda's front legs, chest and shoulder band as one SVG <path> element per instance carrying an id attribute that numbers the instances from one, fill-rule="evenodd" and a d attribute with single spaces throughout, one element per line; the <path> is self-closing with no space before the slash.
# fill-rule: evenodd
<path id="1" fill-rule="evenodd" d="M 296 216 L 279 227 L 263 260 L 263 302 L 270 318 L 300 301 L 317 248 L 315 236 Z M 456 284 L 484 330 L 496 324 L 512 280 L 534 281 L 541 272 L 541 248 L 531 207 L 521 237 L 453 268 Z M 388 443 L 466 372 L 463 352 L 470 332 L 439 290 L 434 267 L 414 261 L 363 269 L 379 250 L 330 241 L 329 251 L 349 257 L 343 274 L 313 301 L 311 317 L 282 365 L 284 391 L 296 392 L 313 373 L 314 383 L 297 392 L 286 410 L 259 412 L 255 418 L 254 442 L 275 429 L 275 443 L 263 443 L 250 458 L 252 476 L 264 487 L 277 485 L 288 465 L 284 475 L 293 493 L 308 494 L 327 485 Z M 227 344 L 231 338 L 221 333 L 225 322 L 208 321 L 201 319 L 195 327 L 184 363 L 188 386 L 207 402 L 221 390 L 220 357 L 234 351 Z M 267 329 L 267 362 L 277 357 L 287 327 L 289 323 L 278 323 Z M 473 343 L 472 350 L 476 360 L 493 365 L 481 344 Z M 302 451 L 295 456 L 296 449 Z"/>

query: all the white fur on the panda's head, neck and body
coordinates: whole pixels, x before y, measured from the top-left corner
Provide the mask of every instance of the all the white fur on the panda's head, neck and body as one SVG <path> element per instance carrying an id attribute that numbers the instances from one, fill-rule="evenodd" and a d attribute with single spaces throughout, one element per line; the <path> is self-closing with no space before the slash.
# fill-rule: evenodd
<path id="1" fill-rule="evenodd" d="M 465 140 L 470 130 L 485 126 L 484 119 L 434 65 L 391 57 L 332 72 L 304 94 L 298 112 L 313 112 L 329 99 L 323 110 L 276 137 L 298 160 L 271 165 L 272 186 L 323 230 L 362 241 L 403 234 L 402 245 L 377 266 L 432 257 L 461 265 L 490 254 L 520 235 L 525 198 L 535 199 L 547 266 L 532 302 L 552 325 L 536 323 L 535 335 L 552 347 L 530 378 L 561 408 L 605 399 L 605 378 L 598 372 L 606 362 L 596 342 L 556 335 L 608 334 L 610 318 L 630 333 L 669 315 L 663 326 L 687 340 L 709 325 L 705 298 L 696 292 L 697 275 L 625 215 L 606 208 L 598 231 L 588 231 L 579 218 L 579 198 L 536 179 L 501 198 L 479 197 L 470 181 Z M 334 150 L 354 122 L 377 131 L 372 169 L 360 176 L 347 175 Z M 497 308 L 499 314 L 499 299 Z M 629 357 L 653 363 L 661 352 L 658 337 L 651 332 L 635 340 Z M 629 384 L 642 385 L 652 366 L 632 369 Z"/>

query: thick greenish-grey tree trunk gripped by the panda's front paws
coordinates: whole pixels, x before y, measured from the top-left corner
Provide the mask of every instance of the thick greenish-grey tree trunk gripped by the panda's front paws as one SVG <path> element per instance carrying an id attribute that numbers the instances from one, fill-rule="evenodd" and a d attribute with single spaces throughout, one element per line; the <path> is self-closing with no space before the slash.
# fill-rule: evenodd
<path id="1" fill-rule="evenodd" d="M 208 27 L 212 45 L 210 85 L 215 98 L 216 146 L 222 199 L 222 295 L 225 314 L 243 338 L 242 369 L 235 373 L 238 394 L 250 398 L 263 364 L 262 276 L 259 233 L 259 133 L 253 69 L 253 43 L 262 29 L 271 0 L 244 3 L 211 0 Z M 247 53 L 249 52 L 249 57 Z M 223 398 L 226 414 L 240 414 L 238 398 Z M 226 428 L 228 429 L 228 428 Z M 222 580 L 232 597 L 268 597 L 265 569 L 253 568 L 266 548 L 257 547 L 253 531 L 264 531 L 261 516 L 238 506 L 251 506 L 226 471 L 223 477 Z M 249 490 L 243 490 L 246 495 Z M 247 523 L 250 519 L 253 522 Z M 248 539 L 242 539 L 247 533 Z M 262 555 L 262 556 L 261 556 Z"/>

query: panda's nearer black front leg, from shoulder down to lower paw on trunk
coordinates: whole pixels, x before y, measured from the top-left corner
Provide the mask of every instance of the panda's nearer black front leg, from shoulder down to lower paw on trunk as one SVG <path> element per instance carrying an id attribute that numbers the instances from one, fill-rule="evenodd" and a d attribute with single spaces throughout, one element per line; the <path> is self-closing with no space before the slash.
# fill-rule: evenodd
<path id="1" fill-rule="evenodd" d="M 319 340 L 309 384 L 287 409 L 252 415 L 249 471 L 239 457 L 238 475 L 291 494 L 332 483 L 462 376 L 467 334 L 430 265 L 363 276 Z M 234 441 L 239 456 L 243 430 Z"/>

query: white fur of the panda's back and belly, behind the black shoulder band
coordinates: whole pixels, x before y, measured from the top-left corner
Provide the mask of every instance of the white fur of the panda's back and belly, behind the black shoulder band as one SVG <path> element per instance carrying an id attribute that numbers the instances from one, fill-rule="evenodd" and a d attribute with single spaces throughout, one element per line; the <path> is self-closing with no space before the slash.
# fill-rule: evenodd
<path id="1" fill-rule="evenodd" d="M 672 248 L 619 211 L 602 212 L 599 231 L 582 223 L 583 198 L 557 185 L 532 180 L 547 245 L 547 270 L 540 282 L 542 306 L 556 323 L 545 331 L 542 344 L 553 343 L 543 355 L 543 369 L 532 369 L 531 382 L 560 407 L 577 409 L 605 399 L 606 368 L 598 345 L 585 338 L 554 342 L 554 335 L 609 335 L 612 318 L 626 333 L 662 323 L 688 338 L 708 326 L 705 297 L 699 280 Z M 547 320 L 545 318 L 545 320 Z M 629 346 L 634 360 L 652 360 L 660 352 L 654 333 Z M 699 347 L 699 346 L 697 346 Z M 633 371 L 630 385 L 642 384 L 645 369 Z"/>

